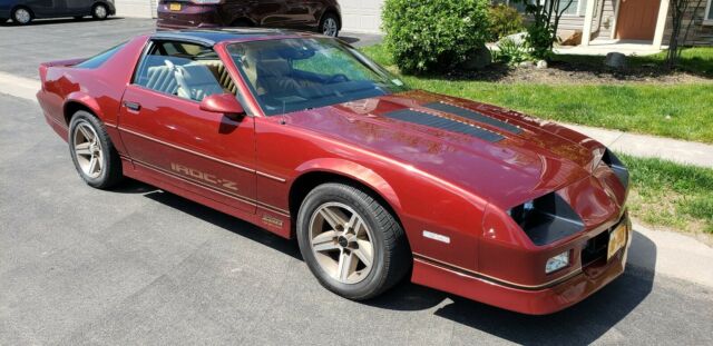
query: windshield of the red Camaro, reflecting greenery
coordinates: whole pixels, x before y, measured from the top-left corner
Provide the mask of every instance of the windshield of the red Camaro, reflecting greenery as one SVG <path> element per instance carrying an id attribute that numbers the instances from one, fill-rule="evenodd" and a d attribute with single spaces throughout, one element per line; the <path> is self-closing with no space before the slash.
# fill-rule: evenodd
<path id="1" fill-rule="evenodd" d="M 266 116 L 407 90 L 401 80 L 334 39 L 252 41 L 227 49 Z"/>

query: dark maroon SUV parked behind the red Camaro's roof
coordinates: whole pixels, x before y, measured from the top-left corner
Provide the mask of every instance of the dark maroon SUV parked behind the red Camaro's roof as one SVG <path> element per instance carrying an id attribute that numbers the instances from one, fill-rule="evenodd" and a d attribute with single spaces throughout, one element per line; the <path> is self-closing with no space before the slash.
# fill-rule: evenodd
<path id="1" fill-rule="evenodd" d="M 336 0 L 160 0 L 159 29 L 267 27 L 316 30 L 336 37 Z"/>

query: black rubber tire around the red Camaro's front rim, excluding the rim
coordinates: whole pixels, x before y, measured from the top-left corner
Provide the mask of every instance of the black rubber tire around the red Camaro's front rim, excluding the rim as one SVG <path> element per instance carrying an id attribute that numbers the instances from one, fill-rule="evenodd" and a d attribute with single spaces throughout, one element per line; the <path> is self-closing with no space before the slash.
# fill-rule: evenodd
<path id="1" fill-rule="evenodd" d="M 355 284 L 345 284 L 330 276 L 312 251 L 312 215 L 330 202 L 351 207 L 373 234 L 373 265 L 369 274 Z M 354 186 L 329 182 L 314 188 L 300 207 L 296 229 L 302 257 L 312 274 L 326 289 L 345 298 L 363 300 L 375 297 L 399 283 L 411 268 L 411 251 L 401 225 L 379 200 Z"/>

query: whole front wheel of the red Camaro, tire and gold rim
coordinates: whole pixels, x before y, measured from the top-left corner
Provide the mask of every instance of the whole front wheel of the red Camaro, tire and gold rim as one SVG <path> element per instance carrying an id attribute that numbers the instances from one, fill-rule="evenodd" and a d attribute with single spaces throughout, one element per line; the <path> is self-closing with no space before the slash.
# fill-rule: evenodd
<path id="1" fill-rule="evenodd" d="M 297 240 L 325 288 L 350 299 L 372 298 L 400 281 L 411 265 L 403 229 L 359 188 L 324 184 L 300 207 Z"/>

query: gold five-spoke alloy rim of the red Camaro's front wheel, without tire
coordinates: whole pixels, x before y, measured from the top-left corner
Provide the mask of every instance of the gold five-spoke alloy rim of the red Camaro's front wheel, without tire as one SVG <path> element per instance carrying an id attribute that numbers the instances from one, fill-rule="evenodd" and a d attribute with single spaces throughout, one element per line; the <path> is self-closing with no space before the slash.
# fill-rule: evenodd
<path id="1" fill-rule="evenodd" d="M 326 202 L 310 219 L 310 247 L 320 267 L 342 284 L 362 281 L 373 266 L 373 234 L 341 202 Z"/>

